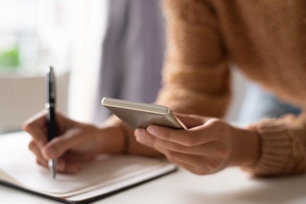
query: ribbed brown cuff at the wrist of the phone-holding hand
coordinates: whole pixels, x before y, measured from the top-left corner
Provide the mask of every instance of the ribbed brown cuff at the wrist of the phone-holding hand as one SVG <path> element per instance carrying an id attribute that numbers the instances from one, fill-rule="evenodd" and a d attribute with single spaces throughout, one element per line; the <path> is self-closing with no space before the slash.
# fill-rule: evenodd
<path id="1" fill-rule="evenodd" d="M 291 144 L 284 125 L 277 120 L 269 120 L 250 125 L 247 129 L 254 130 L 260 135 L 261 154 L 254 165 L 241 168 L 255 175 L 288 174 L 286 168 L 291 154 Z"/>

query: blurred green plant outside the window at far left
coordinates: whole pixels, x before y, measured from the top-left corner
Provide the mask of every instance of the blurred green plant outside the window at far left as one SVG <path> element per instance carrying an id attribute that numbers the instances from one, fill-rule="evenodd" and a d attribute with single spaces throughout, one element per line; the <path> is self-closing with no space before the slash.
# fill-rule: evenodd
<path id="1" fill-rule="evenodd" d="M 19 48 L 13 46 L 0 53 L 0 70 L 17 70 L 20 66 Z"/>

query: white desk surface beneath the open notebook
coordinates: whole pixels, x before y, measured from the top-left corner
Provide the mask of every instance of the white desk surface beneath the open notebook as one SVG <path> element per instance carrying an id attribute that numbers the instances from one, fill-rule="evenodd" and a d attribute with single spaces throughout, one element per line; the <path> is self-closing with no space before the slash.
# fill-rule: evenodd
<path id="1" fill-rule="evenodd" d="M 0 136 L 1 137 L 1 136 Z M 27 145 L 27 144 L 25 144 Z M 252 178 L 239 168 L 197 176 L 179 169 L 94 204 L 306 204 L 306 175 Z M 0 185 L 2 204 L 59 204 Z"/>

